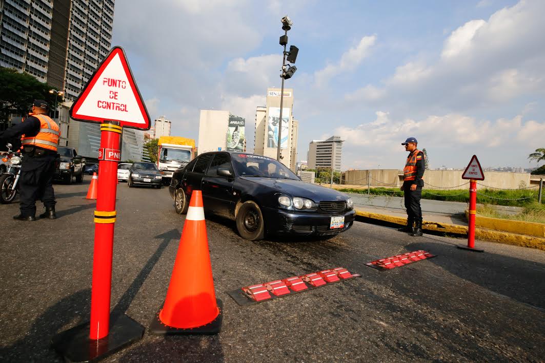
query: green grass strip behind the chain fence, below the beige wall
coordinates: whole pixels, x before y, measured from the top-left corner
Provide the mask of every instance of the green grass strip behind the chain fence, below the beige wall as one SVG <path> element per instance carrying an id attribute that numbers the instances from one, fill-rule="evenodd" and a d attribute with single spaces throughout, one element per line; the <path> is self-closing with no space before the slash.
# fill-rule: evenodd
<path id="1" fill-rule="evenodd" d="M 469 202 L 468 189 L 455 189 L 455 190 L 423 189 L 422 199 L 444 200 L 444 201 L 451 201 L 451 202 Z M 366 187 L 362 187 L 358 189 L 339 189 L 339 190 L 341 192 L 346 192 L 346 193 L 367 194 Z M 512 189 L 512 190 L 500 190 L 500 189 L 479 190 L 477 189 L 477 193 L 480 193 L 480 194 L 477 194 L 477 203 L 480 203 L 480 204 L 494 204 L 494 205 L 523 207 L 537 200 L 537 190 L 529 190 L 529 189 Z M 394 189 L 394 188 L 371 188 L 370 194 L 403 196 L 403 192 L 401 190 Z M 494 199 L 494 198 L 500 198 L 500 199 Z"/>

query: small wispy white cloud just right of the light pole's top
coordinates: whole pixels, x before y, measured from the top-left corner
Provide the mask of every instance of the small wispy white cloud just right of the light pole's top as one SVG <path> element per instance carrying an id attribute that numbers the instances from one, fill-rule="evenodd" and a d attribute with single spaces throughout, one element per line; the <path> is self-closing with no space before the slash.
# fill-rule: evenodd
<path id="1" fill-rule="evenodd" d="M 344 52 L 341 59 L 335 64 L 328 64 L 314 73 L 318 86 L 325 85 L 329 79 L 339 73 L 352 71 L 360 65 L 361 61 L 370 55 L 371 48 L 377 40 L 376 35 L 364 36 L 358 45 Z"/>

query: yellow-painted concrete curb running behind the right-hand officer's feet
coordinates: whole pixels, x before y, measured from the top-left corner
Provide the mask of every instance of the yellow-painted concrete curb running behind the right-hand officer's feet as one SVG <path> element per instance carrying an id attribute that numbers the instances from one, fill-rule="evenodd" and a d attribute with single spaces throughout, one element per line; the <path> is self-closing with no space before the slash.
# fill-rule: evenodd
<path id="1" fill-rule="evenodd" d="M 380 220 L 382 222 L 389 222 L 404 225 L 407 223 L 406 218 L 389 216 L 387 214 L 372 213 L 366 211 L 359 211 L 356 209 L 356 216 L 370 218 L 374 220 Z M 422 229 L 425 231 L 434 231 L 440 233 L 452 233 L 454 235 L 467 236 L 468 227 L 459 226 L 448 223 L 437 222 L 422 222 Z M 536 248 L 545 251 L 545 238 L 526 236 L 519 233 L 503 232 L 489 230 L 485 228 L 475 228 L 475 238 L 483 241 L 498 242 L 505 244 L 512 244 L 520 247 Z"/>

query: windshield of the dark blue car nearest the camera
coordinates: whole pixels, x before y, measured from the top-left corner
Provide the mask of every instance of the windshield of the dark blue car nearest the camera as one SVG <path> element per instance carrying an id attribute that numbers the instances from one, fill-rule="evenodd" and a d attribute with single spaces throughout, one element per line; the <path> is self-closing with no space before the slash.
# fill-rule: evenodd
<path id="1" fill-rule="evenodd" d="M 249 154 L 232 154 L 232 157 L 234 167 L 241 176 L 299 180 L 291 170 L 275 159 Z"/>

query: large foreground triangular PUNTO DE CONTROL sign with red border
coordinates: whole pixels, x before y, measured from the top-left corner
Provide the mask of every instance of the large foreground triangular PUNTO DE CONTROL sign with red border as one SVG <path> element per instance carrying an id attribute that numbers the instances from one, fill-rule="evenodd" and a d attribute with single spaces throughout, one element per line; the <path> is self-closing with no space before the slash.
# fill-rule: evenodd
<path id="1" fill-rule="evenodd" d="M 132 76 L 122 47 L 113 47 L 70 108 L 70 117 L 84 122 L 119 121 L 119 125 L 149 130 L 146 104 Z"/>

